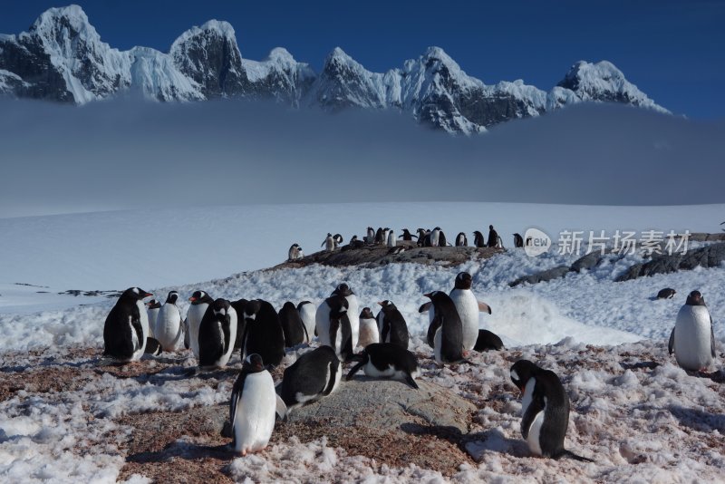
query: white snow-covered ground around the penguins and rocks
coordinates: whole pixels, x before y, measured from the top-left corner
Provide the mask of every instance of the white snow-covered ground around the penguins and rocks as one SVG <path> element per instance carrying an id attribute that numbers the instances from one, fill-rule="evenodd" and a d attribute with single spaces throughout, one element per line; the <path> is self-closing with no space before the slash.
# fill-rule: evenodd
<path id="1" fill-rule="evenodd" d="M 598 462 L 577 469 L 576 477 L 568 479 L 557 472 L 572 471 L 572 463 L 541 463 L 517 456 L 517 447 L 511 442 L 520 438 L 520 405 L 511 393 L 499 411 L 482 408 L 479 412 L 478 431 L 485 439 L 478 447 L 473 445 L 471 452 L 483 455 L 483 463 L 478 468 L 462 466 L 452 479 L 499 477 L 507 481 L 507 475 L 526 473 L 527 468 L 537 469 L 528 479 L 545 480 L 723 479 L 725 463 L 721 455 L 715 455 L 717 451 L 713 454 L 703 448 L 698 458 L 688 450 L 678 460 L 676 445 L 684 433 L 691 435 L 692 426 L 707 437 L 721 440 L 725 431 L 721 383 L 718 386 L 689 376 L 673 366 L 665 344 L 685 296 L 698 289 L 709 305 L 716 338 L 723 347 L 725 329 L 720 322 L 725 319 L 725 295 L 721 291 L 725 267 L 616 283 L 614 278 L 624 268 L 642 258 L 606 257 L 591 271 L 516 288 L 508 283 L 519 276 L 570 264 L 577 257 L 558 255 L 554 249 L 542 257 L 527 257 L 521 249 L 510 249 L 497 257 L 452 267 L 391 264 L 378 268 L 257 269 L 283 262 L 293 242 L 309 254 L 319 248 L 327 232 L 339 232 L 347 240 L 352 234 L 362 236 L 369 225 L 398 230 L 440 226 L 450 240 L 465 231 L 470 241 L 473 230 L 485 233 L 490 223 L 511 247 L 510 234 L 523 235 L 527 227 L 544 229 L 555 243 L 563 229 L 715 232 L 720 228 L 724 208 L 337 204 L 0 219 L 0 233 L 4 236 L 0 238 L 2 370 L 13 373 L 25 368 L 33 373 L 38 367 L 45 371 L 92 367 L 102 347 L 103 321 L 115 299 L 57 293 L 128 286 L 150 290 L 161 300 L 170 289 L 179 290 L 183 314 L 188 308 L 187 298 L 196 289 L 204 289 L 214 297 L 263 298 L 279 308 L 287 300 L 295 304 L 304 299 L 319 303 L 333 286 L 345 281 L 358 295 L 361 307 L 374 308 L 383 299 L 393 301 L 409 324 L 414 349 L 428 354 L 430 348 L 421 340 L 428 317 L 417 311 L 426 301 L 423 293 L 449 290 L 456 274 L 466 270 L 473 275 L 472 289 L 478 299 L 493 309 L 492 315 L 480 315 L 481 327 L 501 335 L 509 352 L 522 353 L 563 375 L 573 399 L 574 430 L 568 434 L 569 445 L 579 453 L 596 454 Z M 672 300 L 654 300 L 663 287 L 673 287 L 678 294 Z M 643 339 L 647 340 L 635 343 Z M 562 340 L 563 344 L 557 344 Z M 599 350 L 588 349 L 585 344 L 621 345 L 604 347 L 600 357 L 596 353 Z M 67 350 L 71 347 L 91 350 L 85 357 L 69 356 Z M 42 357 L 34 356 L 37 354 Z M 623 369 L 620 363 L 628 354 L 635 354 L 637 361 L 654 361 L 659 366 L 652 371 L 646 367 Z M 482 359 L 478 368 L 460 370 L 465 374 L 443 369 L 430 370 L 425 377 L 464 396 L 469 396 L 469 386 L 478 382 L 483 385 L 482 390 L 479 388 L 481 398 L 488 392 L 500 392 L 501 384 L 511 387 L 507 383 L 510 362 L 496 355 L 477 358 Z M 720 365 L 718 361 L 713 370 Z M 183 411 L 226 402 L 231 382 L 220 382 L 212 388 L 198 378 L 169 378 L 162 384 L 150 384 L 102 374 L 71 389 L 58 389 L 53 395 L 26 387 L 12 397 L 0 398 L 0 476 L 11 480 L 66 476 L 60 480 L 112 481 L 118 477 L 123 459 L 107 436 L 111 432 L 121 441 L 127 431 L 113 419 L 134 411 Z M 506 392 L 512 392 L 512 388 Z M 616 423 L 617 419 L 623 422 Z M 652 424 L 647 423 L 650 420 Z M 632 425 L 631 434 L 627 433 L 628 424 Z M 304 466 L 290 461 L 289 456 L 296 452 L 303 455 Z M 646 454 L 648 460 L 642 460 L 641 454 Z M 314 465 L 307 462 L 311 459 L 316 460 Z M 645 465 L 638 466 L 638 460 Z M 325 449 L 324 442 L 276 444 L 267 454 L 234 460 L 227 474 L 236 479 L 245 475 L 255 480 L 280 479 L 276 471 L 297 472 L 302 466 L 314 468 L 312 479 L 315 472 L 332 469 L 340 462 L 355 469 L 353 477 L 345 479 L 372 476 L 369 461 Z M 382 476 L 393 480 L 443 479 L 426 469 L 372 468 L 378 478 L 371 481 L 382 481 Z M 665 468 L 670 469 L 670 474 L 664 473 Z"/>

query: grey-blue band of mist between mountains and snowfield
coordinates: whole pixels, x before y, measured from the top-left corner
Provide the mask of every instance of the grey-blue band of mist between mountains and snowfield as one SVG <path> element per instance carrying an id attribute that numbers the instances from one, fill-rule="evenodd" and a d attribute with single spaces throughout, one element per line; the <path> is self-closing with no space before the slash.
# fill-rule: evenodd
<path id="1" fill-rule="evenodd" d="M 394 112 L 0 102 L 0 218 L 257 203 L 723 201 L 723 121 L 578 105 L 451 137 Z"/>

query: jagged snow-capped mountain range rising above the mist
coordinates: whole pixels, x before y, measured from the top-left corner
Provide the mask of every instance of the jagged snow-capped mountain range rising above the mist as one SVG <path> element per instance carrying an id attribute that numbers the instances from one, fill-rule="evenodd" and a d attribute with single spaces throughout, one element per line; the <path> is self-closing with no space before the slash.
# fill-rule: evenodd
<path id="1" fill-rule="evenodd" d="M 395 109 L 467 134 L 575 102 L 669 112 L 606 61 L 575 63 L 546 92 L 520 80 L 486 85 L 438 47 L 386 73 L 367 71 L 339 47 L 319 74 L 283 48 L 251 61 L 242 58 L 234 28 L 217 20 L 179 35 L 169 53 L 148 47 L 121 52 L 102 42 L 78 5 L 47 10 L 28 32 L 0 35 L 0 93 L 82 104 L 124 92 L 160 102 L 247 98 L 324 111 Z"/>

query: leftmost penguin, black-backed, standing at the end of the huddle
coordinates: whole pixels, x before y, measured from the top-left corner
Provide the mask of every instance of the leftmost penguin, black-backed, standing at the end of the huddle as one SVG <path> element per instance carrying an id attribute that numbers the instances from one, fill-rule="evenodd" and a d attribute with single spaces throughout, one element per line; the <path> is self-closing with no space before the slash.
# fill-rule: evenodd
<path id="1" fill-rule="evenodd" d="M 149 315 L 142 300 L 150 295 L 140 287 L 129 287 L 121 294 L 103 324 L 104 356 L 122 363 L 140 359 L 149 334 Z"/>

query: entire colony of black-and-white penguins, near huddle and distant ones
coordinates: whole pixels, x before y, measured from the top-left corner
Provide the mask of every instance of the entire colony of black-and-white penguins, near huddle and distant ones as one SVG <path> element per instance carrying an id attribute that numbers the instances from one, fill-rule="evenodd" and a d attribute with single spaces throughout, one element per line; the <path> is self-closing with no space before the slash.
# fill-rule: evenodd
<path id="1" fill-rule="evenodd" d="M 370 235 L 372 232 L 369 227 L 365 239 L 384 241 L 380 243 L 388 243 L 392 233 L 387 228 Z M 439 227 L 430 232 L 419 229 L 419 234 L 431 243 L 445 240 Z M 479 233 L 475 236 L 481 238 Z M 415 236 L 404 230 L 401 237 Z M 342 237 L 328 234 L 328 240 L 334 249 Z M 459 241 L 465 243 L 465 234 L 456 237 L 457 244 Z M 478 315 L 493 312 L 478 301 L 471 286 L 470 274 L 461 272 L 448 294 L 433 291 L 422 295 L 430 299 L 419 312 L 429 315 L 426 340 L 438 364 L 473 364 L 467 359 L 470 351 L 505 349 L 498 335 L 478 327 Z M 675 294 L 674 289 L 666 288 L 656 299 Z M 170 291 L 163 305 L 151 300 L 147 307 L 142 301 L 150 296 L 140 287 L 121 294 L 103 327 L 104 358 L 133 363 L 144 353 L 176 352 L 183 345 L 191 350 L 199 369 L 208 371 L 227 366 L 238 350 L 242 367 L 229 402 L 230 448 L 243 456 L 266 448 L 275 419 L 285 420 L 289 411 L 334 392 L 341 384 L 343 364 L 351 365 L 345 380 L 362 370 L 369 377 L 399 380 L 411 390 L 419 388 L 420 365 L 415 353 L 408 350 L 408 326 L 400 311 L 385 300 L 377 303 L 381 308 L 377 315 L 370 306 L 358 313 L 357 296 L 347 284 L 335 286 L 319 305 L 288 301 L 279 312 L 261 299 L 214 299 L 199 290 L 189 297 L 183 320 L 177 291 Z M 269 369 L 282 363 L 285 348 L 309 346 L 315 335 L 319 346 L 288 366 L 275 388 Z M 703 372 L 713 363 L 712 319 L 699 291 L 692 291 L 682 305 L 668 348 L 689 372 Z M 556 373 L 519 360 L 511 366 L 510 379 L 522 393 L 521 435 L 533 455 L 594 461 L 565 449 L 569 397 Z"/>

